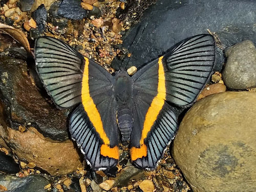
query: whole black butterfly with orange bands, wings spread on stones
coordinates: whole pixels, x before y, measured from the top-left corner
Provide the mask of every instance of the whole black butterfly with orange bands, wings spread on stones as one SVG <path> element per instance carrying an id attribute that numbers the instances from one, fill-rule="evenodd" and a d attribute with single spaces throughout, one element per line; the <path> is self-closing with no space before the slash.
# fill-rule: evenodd
<path id="1" fill-rule="evenodd" d="M 173 106 L 193 104 L 212 73 L 215 41 L 189 37 L 133 76 L 114 75 L 52 37 L 35 42 L 37 73 L 58 108 L 74 108 L 69 131 L 93 170 L 114 167 L 119 141 L 129 141 L 133 164 L 152 170 L 174 138 Z"/>

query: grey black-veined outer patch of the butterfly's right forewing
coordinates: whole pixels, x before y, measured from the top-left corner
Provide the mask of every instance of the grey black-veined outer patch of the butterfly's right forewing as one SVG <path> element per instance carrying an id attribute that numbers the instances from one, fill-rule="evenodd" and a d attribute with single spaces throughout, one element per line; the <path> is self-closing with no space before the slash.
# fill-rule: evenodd
<path id="1" fill-rule="evenodd" d="M 166 100 L 179 106 L 197 98 L 215 62 L 215 41 L 211 35 L 197 35 L 176 44 L 164 55 Z"/>

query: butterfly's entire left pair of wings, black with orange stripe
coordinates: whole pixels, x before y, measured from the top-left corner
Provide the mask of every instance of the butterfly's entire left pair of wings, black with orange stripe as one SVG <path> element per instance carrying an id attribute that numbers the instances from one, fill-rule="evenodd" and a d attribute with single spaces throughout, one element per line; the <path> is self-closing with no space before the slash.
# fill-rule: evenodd
<path id="1" fill-rule="evenodd" d="M 114 78 L 72 47 L 40 37 L 35 45 L 38 75 L 55 104 L 79 106 L 70 117 L 70 132 L 95 170 L 118 162 L 118 128 L 113 96 Z"/>

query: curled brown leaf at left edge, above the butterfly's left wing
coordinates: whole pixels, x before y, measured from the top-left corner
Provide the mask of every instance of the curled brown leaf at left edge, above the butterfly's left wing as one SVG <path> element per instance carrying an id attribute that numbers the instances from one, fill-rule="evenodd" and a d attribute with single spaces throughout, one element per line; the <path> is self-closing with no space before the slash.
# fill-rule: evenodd
<path id="1" fill-rule="evenodd" d="M 11 26 L 7 26 L 7 25 L 5 25 L 3 23 L 0 23 L 0 29 L 3 30 L 8 35 L 10 35 L 12 38 L 14 38 L 20 44 L 22 44 L 24 46 L 24 48 L 28 52 L 30 52 L 29 41 L 28 41 L 26 35 L 22 31 L 20 31 L 18 29 L 15 29 L 15 28 L 13 28 Z"/>

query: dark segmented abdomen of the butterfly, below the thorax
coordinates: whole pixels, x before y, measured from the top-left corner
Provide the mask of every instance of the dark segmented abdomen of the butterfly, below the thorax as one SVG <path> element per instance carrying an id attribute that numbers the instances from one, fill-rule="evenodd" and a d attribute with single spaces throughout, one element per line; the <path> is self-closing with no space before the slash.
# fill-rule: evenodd
<path id="1" fill-rule="evenodd" d="M 118 108 L 117 123 L 122 135 L 122 141 L 128 141 L 133 129 L 133 115 L 127 106 L 122 105 Z"/>

